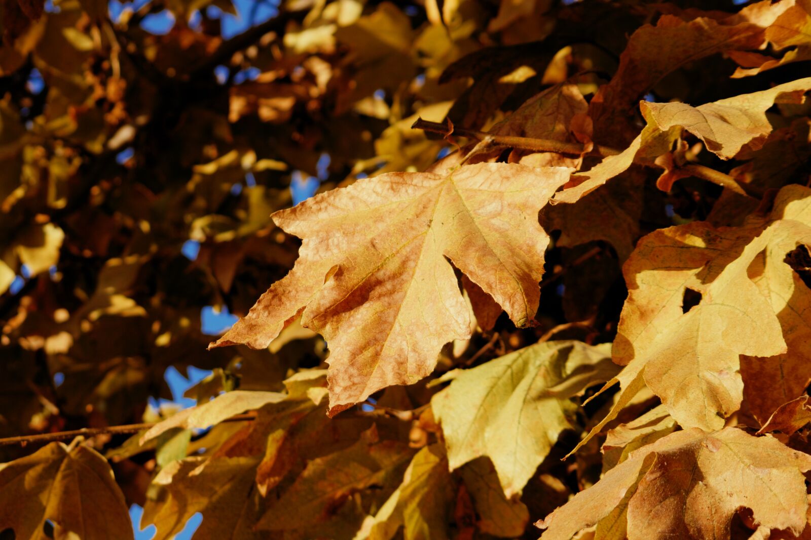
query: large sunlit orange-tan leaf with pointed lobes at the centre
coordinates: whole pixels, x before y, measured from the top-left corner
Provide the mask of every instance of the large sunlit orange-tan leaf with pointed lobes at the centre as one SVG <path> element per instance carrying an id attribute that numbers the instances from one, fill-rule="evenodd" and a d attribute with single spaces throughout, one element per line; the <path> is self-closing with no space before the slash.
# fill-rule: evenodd
<path id="1" fill-rule="evenodd" d="M 531 324 L 549 242 L 538 212 L 568 178 L 520 164 L 393 172 L 281 210 L 276 223 L 303 238 L 294 269 L 212 347 L 267 347 L 303 312 L 329 343 L 331 414 L 414 383 L 445 343 L 470 337 L 453 266 Z"/>

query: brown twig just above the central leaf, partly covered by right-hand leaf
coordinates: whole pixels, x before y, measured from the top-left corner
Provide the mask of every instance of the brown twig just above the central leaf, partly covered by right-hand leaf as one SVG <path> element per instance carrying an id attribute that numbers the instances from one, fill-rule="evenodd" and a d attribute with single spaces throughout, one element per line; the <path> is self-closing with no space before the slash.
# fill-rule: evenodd
<path id="1" fill-rule="evenodd" d="M 432 133 L 439 133 L 448 135 L 448 125 L 441 122 L 432 122 L 418 118 L 411 126 L 414 130 L 431 131 Z M 463 127 L 453 126 L 453 134 L 461 135 L 462 137 L 475 138 L 480 141 L 487 140 L 491 146 L 496 147 L 511 147 L 520 148 L 521 150 L 530 150 L 536 152 L 555 152 L 557 154 L 571 154 L 581 155 L 583 153 L 583 145 L 577 142 L 560 142 L 547 138 L 529 138 L 529 137 L 513 137 L 506 135 L 488 134 L 483 131 L 469 130 Z M 601 145 L 594 145 L 594 148 L 588 152 L 589 155 L 599 155 L 601 157 L 608 157 L 609 155 L 620 154 L 616 148 L 603 147 Z M 645 166 L 650 166 L 648 163 L 640 163 Z M 739 182 L 734 176 L 729 176 L 713 168 L 706 167 L 699 164 L 686 164 L 680 167 L 681 170 L 689 172 L 691 176 L 696 176 L 702 180 L 710 181 L 713 184 L 720 185 L 721 187 L 732 189 L 736 193 L 749 195 L 752 198 L 762 198 L 763 193 L 760 189 L 753 185 Z"/>

